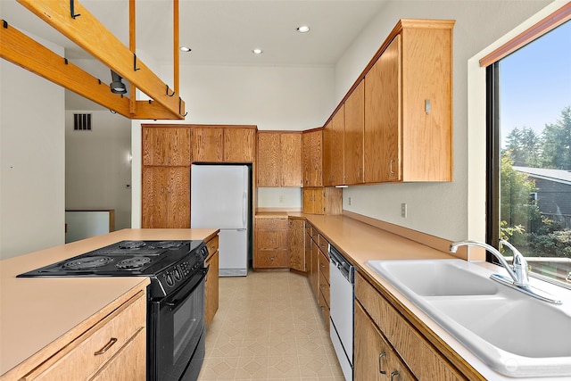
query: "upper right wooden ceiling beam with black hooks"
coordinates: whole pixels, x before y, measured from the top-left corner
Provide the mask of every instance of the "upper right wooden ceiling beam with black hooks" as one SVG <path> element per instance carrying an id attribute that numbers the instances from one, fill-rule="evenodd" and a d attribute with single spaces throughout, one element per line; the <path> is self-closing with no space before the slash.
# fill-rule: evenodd
<path id="1" fill-rule="evenodd" d="M 65 37 L 93 55 L 111 70 L 118 73 L 139 88 L 145 95 L 161 104 L 177 119 L 185 119 L 185 103 L 180 96 L 174 96 L 167 84 L 141 62 L 127 46 L 106 29 L 87 9 L 72 0 L 74 15 L 70 12 L 70 1 L 18 0 L 18 3 L 46 21 Z M 157 119 L 157 118 L 153 118 Z"/>

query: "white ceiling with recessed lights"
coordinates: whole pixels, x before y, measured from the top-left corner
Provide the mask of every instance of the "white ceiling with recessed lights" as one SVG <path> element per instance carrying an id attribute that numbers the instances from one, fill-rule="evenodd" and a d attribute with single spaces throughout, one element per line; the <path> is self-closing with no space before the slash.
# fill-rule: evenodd
<path id="1" fill-rule="evenodd" d="M 75 1 L 128 46 L 128 0 Z M 386 1 L 179 0 L 179 42 L 192 49 L 180 52 L 180 64 L 331 66 Z M 172 1 L 136 0 L 136 10 L 137 50 L 172 62 Z M 65 47 L 71 62 L 90 58 L 16 0 L 0 0 L 0 12 L 12 27 Z M 302 24 L 310 26 L 309 33 L 296 31 Z M 252 54 L 253 48 L 264 53 Z M 100 72 L 88 71 L 107 75 L 101 66 Z"/>

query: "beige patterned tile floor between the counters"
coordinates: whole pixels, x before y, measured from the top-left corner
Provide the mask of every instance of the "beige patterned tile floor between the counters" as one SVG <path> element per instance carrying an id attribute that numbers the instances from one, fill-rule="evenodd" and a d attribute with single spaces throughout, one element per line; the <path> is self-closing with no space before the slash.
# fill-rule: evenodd
<path id="1" fill-rule="evenodd" d="M 253 379 L 344 380 L 307 277 L 219 278 L 219 311 L 198 381 Z"/>

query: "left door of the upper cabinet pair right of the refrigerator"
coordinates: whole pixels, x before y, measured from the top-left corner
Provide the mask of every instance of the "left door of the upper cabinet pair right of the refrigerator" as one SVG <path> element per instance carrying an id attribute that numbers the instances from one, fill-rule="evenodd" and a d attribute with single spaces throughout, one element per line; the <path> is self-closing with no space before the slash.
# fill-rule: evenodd
<path id="1" fill-rule="evenodd" d="M 279 134 L 258 133 L 258 154 L 256 156 L 258 186 L 280 186 L 280 139 Z"/>

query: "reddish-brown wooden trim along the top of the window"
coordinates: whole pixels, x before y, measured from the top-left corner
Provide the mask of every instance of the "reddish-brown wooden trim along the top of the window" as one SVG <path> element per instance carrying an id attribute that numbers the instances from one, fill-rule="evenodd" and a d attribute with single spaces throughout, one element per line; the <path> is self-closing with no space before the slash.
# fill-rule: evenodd
<path id="1" fill-rule="evenodd" d="M 522 46 L 532 42 L 534 39 L 542 37 L 552 29 L 559 27 L 564 22 L 571 20 L 571 2 L 563 5 L 557 11 L 545 17 L 542 21 L 537 22 L 534 26 L 525 29 L 523 33 L 510 39 L 507 43 L 495 49 L 492 53 L 487 54 L 480 60 L 480 67 L 490 66 L 494 62 L 500 61 L 502 58 L 515 52 Z"/>

